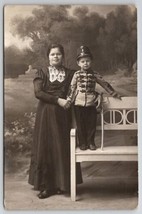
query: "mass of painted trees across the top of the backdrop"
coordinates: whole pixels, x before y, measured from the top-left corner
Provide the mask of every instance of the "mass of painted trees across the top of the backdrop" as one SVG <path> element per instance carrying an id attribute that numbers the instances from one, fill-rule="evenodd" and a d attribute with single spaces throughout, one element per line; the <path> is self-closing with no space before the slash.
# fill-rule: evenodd
<path id="1" fill-rule="evenodd" d="M 50 43 L 63 44 L 66 65 L 76 66 L 76 49 L 90 47 L 96 70 L 115 72 L 125 65 L 129 69 L 136 61 L 137 16 L 129 6 L 118 6 L 115 11 L 100 16 L 87 6 L 78 6 L 70 13 L 66 5 L 44 5 L 32 11 L 30 17 L 12 20 L 14 35 L 31 39 L 34 65 L 47 63 Z"/>

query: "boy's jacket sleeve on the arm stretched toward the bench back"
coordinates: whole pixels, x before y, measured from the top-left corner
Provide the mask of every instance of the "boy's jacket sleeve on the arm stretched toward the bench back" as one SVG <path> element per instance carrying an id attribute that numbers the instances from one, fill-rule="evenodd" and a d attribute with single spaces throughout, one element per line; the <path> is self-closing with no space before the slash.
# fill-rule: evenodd
<path id="1" fill-rule="evenodd" d="M 114 88 L 107 81 L 105 81 L 100 74 L 95 73 L 95 77 L 96 82 L 101 85 L 111 96 L 116 94 Z"/>

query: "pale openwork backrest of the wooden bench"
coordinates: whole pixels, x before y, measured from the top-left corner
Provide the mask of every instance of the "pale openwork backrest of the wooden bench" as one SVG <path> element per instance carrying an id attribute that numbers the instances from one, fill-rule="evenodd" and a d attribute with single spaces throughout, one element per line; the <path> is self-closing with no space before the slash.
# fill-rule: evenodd
<path id="1" fill-rule="evenodd" d="M 103 117 L 104 130 L 137 130 L 137 97 L 104 97 Z"/>

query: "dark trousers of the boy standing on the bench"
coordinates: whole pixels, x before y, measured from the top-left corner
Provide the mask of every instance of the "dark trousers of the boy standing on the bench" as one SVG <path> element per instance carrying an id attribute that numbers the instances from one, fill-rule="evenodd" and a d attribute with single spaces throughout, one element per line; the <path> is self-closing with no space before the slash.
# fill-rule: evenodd
<path id="1" fill-rule="evenodd" d="M 74 106 L 77 133 L 80 145 L 94 144 L 97 122 L 97 110 L 95 106 Z"/>

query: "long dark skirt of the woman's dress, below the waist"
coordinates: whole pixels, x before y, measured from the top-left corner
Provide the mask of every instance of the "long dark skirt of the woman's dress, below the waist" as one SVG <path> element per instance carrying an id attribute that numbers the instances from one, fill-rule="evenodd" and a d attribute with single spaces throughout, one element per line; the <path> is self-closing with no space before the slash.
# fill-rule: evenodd
<path id="1" fill-rule="evenodd" d="M 35 190 L 70 190 L 70 127 L 70 110 L 39 102 L 29 171 Z M 80 165 L 77 183 L 82 183 Z"/>

